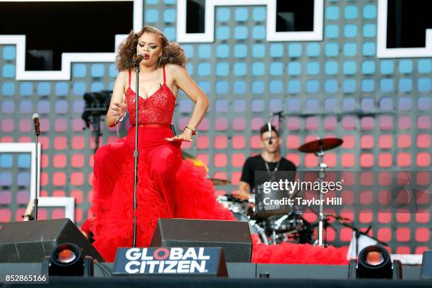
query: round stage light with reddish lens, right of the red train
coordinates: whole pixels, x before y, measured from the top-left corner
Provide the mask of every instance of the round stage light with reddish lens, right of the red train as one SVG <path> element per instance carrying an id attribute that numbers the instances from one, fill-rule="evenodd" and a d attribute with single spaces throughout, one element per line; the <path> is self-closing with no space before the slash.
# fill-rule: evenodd
<path id="1" fill-rule="evenodd" d="M 402 265 L 399 260 L 392 262 L 385 248 L 367 246 L 357 260 L 350 261 L 349 278 L 402 279 Z"/>

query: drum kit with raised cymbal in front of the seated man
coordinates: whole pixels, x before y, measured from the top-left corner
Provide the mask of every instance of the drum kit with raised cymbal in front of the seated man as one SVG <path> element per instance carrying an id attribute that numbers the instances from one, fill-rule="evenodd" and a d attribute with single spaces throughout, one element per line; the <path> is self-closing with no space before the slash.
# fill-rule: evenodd
<path id="1" fill-rule="evenodd" d="M 339 138 L 318 138 L 318 140 L 313 140 L 299 147 L 298 150 L 300 152 L 314 153 L 318 157 L 318 181 L 324 181 L 325 169 L 328 167 L 323 162 L 324 151 L 337 148 L 342 145 L 342 142 L 342 139 Z M 185 158 L 194 161 L 191 155 Z M 200 165 L 202 166 L 202 164 Z M 225 179 L 210 180 L 215 186 L 231 184 L 231 181 Z M 291 205 L 289 209 L 284 210 L 284 213 L 281 213 L 280 210 L 275 210 L 277 212 L 274 213 L 259 213 L 257 211 L 259 209 L 256 209 L 255 201 L 260 196 L 260 193 L 262 193 L 260 189 L 257 189 L 256 195 L 252 195 L 251 197 L 240 194 L 217 196 L 217 201 L 232 211 L 237 220 L 248 222 L 251 234 L 256 234 L 261 243 L 265 245 L 280 244 L 282 242 L 323 245 L 323 229 L 328 224 L 328 220 L 323 212 L 322 192 L 320 193 L 321 205 L 319 206 L 319 211 L 316 212 L 318 215 L 316 223 L 306 221 L 303 217 L 303 211 L 298 205 Z M 294 196 L 298 196 L 298 194 L 292 193 L 291 198 L 294 198 Z M 318 227 L 318 239 L 314 240 L 313 230 L 316 227 Z"/>

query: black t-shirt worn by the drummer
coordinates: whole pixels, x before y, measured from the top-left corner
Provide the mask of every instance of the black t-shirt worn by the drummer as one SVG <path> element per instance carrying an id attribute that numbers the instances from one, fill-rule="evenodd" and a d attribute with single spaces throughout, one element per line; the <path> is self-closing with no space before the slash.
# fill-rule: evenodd
<path id="1" fill-rule="evenodd" d="M 267 162 L 270 172 L 275 170 L 277 162 Z M 255 172 L 256 171 L 267 171 L 265 167 L 265 162 L 261 155 L 256 155 L 253 157 L 248 157 L 246 162 L 244 162 L 243 172 L 241 173 L 240 181 L 244 181 L 249 184 L 251 192 L 253 192 L 253 187 L 255 186 Z M 284 157 L 280 160 L 279 168 L 277 171 L 296 171 L 296 165 L 293 162 L 286 160 Z"/>

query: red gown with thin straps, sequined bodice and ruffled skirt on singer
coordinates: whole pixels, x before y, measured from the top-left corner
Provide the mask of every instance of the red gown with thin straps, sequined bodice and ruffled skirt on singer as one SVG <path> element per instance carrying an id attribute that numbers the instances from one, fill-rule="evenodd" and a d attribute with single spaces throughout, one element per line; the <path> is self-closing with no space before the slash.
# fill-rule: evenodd
<path id="1" fill-rule="evenodd" d="M 179 142 L 169 142 L 175 97 L 165 83 L 147 99 L 139 100 L 137 246 L 150 244 L 158 218 L 177 217 L 235 220 L 217 203 L 215 188 L 205 170 L 182 160 Z M 90 230 L 93 246 L 107 261 L 116 248 L 132 246 L 133 150 L 135 149 L 135 92 L 126 92 L 132 127 L 126 138 L 99 148 L 95 155 Z M 152 124 L 152 125 L 149 125 Z"/>

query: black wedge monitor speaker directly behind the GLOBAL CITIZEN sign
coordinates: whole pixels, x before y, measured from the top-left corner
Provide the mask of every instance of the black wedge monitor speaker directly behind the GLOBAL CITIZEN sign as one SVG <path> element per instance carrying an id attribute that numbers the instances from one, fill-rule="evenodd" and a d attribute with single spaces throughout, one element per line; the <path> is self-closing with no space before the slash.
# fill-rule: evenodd
<path id="1" fill-rule="evenodd" d="M 222 247 L 227 262 L 251 262 L 252 241 L 247 222 L 160 219 L 152 247 Z"/>

